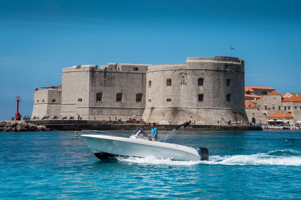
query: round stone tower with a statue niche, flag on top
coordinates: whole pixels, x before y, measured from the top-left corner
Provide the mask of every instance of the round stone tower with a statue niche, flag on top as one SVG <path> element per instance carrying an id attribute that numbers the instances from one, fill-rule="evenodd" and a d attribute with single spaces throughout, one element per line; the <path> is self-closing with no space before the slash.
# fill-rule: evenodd
<path id="1" fill-rule="evenodd" d="M 146 122 L 246 123 L 244 61 L 234 57 L 188 57 L 186 63 L 152 65 L 146 73 Z"/>

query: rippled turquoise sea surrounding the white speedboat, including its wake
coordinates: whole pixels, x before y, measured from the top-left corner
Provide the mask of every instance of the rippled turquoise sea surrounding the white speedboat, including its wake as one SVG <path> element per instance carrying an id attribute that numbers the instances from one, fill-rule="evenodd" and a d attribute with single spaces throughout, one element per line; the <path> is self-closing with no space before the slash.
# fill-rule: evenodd
<path id="1" fill-rule="evenodd" d="M 99 160 L 74 132 L 0 136 L 0 199 L 301 199 L 298 130 L 184 131 L 209 149 L 198 162 Z"/>

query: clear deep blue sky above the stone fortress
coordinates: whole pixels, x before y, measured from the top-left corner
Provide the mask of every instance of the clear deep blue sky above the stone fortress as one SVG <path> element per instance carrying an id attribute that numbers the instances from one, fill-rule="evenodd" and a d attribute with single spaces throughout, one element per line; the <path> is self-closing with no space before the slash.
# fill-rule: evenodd
<path id="1" fill-rule="evenodd" d="M 31 116 L 64 67 L 245 60 L 245 85 L 301 93 L 298 1 L 0 1 L 0 120 Z"/>

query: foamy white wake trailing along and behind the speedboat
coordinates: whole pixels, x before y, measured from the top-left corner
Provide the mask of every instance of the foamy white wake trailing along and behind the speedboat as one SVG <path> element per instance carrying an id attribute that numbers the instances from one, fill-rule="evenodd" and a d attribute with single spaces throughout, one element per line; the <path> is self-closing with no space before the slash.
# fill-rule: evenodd
<path id="1" fill-rule="evenodd" d="M 118 161 L 127 163 L 147 163 L 147 164 L 165 164 L 165 165 L 287 165 L 301 166 L 301 152 L 283 149 L 274 150 L 267 153 L 256 153 L 252 155 L 233 155 L 233 156 L 209 156 L 209 161 L 173 161 L 169 158 L 158 159 L 154 156 L 146 158 L 117 157 Z"/>

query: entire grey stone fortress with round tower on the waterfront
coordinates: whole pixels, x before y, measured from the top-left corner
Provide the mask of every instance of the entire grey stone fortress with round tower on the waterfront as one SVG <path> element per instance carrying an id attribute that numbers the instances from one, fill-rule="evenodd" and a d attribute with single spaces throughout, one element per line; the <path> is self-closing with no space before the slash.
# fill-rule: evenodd
<path id="1" fill-rule="evenodd" d="M 188 57 L 179 64 L 79 65 L 63 68 L 62 84 L 35 88 L 32 118 L 79 114 L 85 120 L 146 123 L 247 123 L 244 60 Z"/>

